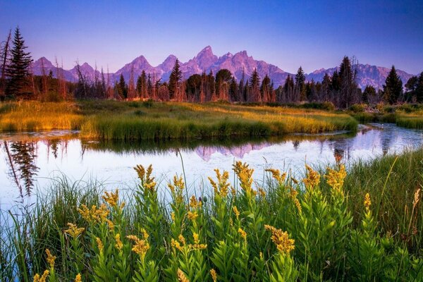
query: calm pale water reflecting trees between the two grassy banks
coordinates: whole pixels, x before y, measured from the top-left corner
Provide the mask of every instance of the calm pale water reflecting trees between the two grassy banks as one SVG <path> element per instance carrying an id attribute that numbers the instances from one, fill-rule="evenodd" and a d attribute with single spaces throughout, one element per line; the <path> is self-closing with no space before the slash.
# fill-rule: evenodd
<path id="1" fill-rule="evenodd" d="M 66 135 L 66 137 L 65 137 Z M 190 142 L 97 142 L 78 139 L 77 133 L 20 133 L 0 135 L 0 205 L 27 201 L 49 189 L 51 178 L 102 181 L 106 188 L 130 188 L 136 183 L 133 166 L 154 167 L 164 184 L 175 173 L 185 175 L 188 187 L 199 190 L 214 168 L 231 171 L 234 161 L 246 161 L 262 179 L 264 168 L 291 170 L 304 165 L 333 164 L 336 156 L 353 164 L 423 145 L 423 130 L 372 124 L 358 133 L 288 135 L 267 140 L 194 140 Z"/>

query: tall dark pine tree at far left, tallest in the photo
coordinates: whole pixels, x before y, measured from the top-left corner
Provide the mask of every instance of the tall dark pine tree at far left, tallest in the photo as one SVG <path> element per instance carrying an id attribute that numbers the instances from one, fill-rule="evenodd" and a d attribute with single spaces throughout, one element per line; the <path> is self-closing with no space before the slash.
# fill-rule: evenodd
<path id="1" fill-rule="evenodd" d="M 25 52 L 27 47 L 19 27 L 16 27 L 13 38 L 13 48 L 11 49 L 11 61 L 6 68 L 8 83 L 6 86 L 6 95 L 17 97 L 27 84 L 27 77 L 30 75 L 30 65 L 32 58 L 30 52 Z"/>

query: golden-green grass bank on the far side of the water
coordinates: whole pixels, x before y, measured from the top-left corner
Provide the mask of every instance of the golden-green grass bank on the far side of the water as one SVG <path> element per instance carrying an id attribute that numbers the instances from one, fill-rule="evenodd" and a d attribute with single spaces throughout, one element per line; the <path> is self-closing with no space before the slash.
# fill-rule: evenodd
<path id="1" fill-rule="evenodd" d="M 105 140 L 264 137 L 356 130 L 346 114 L 314 109 L 229 104 L 79 101 L 0 106 L 0 131 L 80 129 Z"/>

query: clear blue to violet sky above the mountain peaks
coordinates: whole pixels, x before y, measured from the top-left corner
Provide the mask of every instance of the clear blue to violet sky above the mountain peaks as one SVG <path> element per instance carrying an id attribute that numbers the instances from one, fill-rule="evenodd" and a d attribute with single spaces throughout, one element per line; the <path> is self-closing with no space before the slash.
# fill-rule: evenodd
<path id="1" fill-rule="evenodd" d="M 359 63 L 423 71 L 420 1 L 19 1 L 0 0 L 0 41 L 20 27 L 41 56 L 119 68 L 143 55 L 157 66 L 169 54 L 192 59 L 246 50 L 295 73 Z"/>

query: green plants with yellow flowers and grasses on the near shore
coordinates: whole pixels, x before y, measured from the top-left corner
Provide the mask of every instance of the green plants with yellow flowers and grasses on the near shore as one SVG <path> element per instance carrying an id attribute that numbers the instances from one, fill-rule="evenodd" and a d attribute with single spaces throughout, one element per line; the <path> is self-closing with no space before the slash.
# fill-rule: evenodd
<path id="1" fill-rule="evenodd" d="M 302 180 L 269 169 L 264 183 L 237 162 L 232 183 L 215 170 L 193 193 L 137 166 L 134 197 L 58 180 L 26 213 L 3 214 L 1 280 L 422 281 L 422 157 L 348 175 L 307 166 Z"/>

